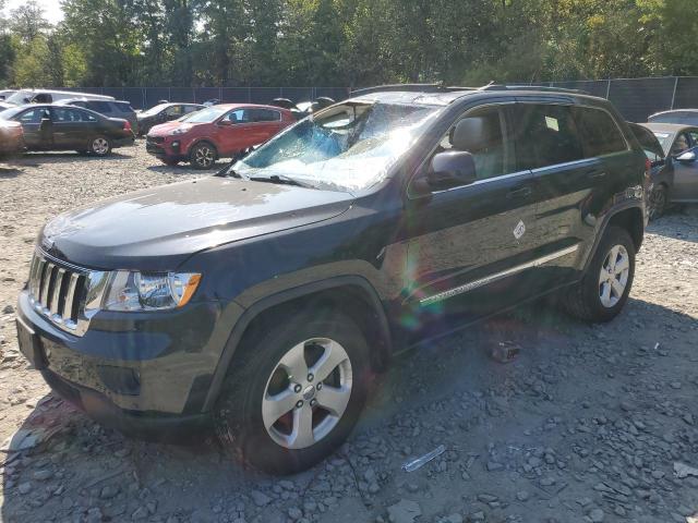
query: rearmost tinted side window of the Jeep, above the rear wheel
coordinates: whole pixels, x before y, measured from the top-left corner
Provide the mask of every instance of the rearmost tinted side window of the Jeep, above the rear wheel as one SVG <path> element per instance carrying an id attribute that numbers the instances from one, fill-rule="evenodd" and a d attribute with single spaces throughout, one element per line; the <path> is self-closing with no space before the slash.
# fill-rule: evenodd
<path id="1" fill-rule="evenodd" d="M 606 111 L 589 107 L 573 107 L 571 112 L 575 115 L 587 158 L 627 150 L 628 146 L 621 130 Z"/>

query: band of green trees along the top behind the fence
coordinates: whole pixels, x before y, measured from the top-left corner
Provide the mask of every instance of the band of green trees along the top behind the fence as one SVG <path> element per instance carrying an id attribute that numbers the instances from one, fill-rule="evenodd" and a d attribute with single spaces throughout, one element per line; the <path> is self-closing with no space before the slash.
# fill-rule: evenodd
<path id="1" fill-rule="evenodd" d="M 3 0 L 0 0 L 0 4 Z M 28 0 L 0 85 L 478 85 L 698 75 L 696 0 Z"/>

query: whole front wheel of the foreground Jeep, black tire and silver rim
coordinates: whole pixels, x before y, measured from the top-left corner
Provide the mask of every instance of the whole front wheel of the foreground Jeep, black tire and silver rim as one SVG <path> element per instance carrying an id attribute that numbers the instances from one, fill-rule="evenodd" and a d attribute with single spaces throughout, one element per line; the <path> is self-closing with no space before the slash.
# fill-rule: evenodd
<path id="1" fill-rule="evenodd" d="M 361 329 L 339 313 L 289 315 L 245 336 L 215 412 L 229 453 L 269 473 L 304 471 L 354 427 L 371 368 Z"/>

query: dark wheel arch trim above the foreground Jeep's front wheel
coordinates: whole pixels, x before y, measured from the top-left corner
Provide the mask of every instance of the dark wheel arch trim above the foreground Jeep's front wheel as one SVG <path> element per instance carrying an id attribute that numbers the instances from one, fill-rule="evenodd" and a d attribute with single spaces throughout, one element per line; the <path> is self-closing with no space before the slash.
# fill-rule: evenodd
<path id="1" fill-rule="evenodd" d="M 392 335 L 387 315 L 377 292 L 368 280 L 360 276 L 341 276 L 306 285 L 281 291 L 264 297 L 242 314 L 236 323 L 213 376 L 204 402 L 204 411 L 214 408 L 222 389 L 234 353 L 245 336 L 269 321 L 272 314 L 290 314 L 302 302 L 312 301 L 313 307 L 335 306 L 349 315 L 362 328 L 370 344 L 375 341 L 376 349 L 371 351 L 371 364 L 375 370 L 387 368 L 392 346 Z"/>

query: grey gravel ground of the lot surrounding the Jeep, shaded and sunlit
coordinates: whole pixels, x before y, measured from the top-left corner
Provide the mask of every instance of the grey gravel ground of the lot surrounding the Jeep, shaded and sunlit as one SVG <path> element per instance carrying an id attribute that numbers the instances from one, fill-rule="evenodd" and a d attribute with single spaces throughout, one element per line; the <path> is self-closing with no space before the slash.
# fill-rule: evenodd
<path id="1" fill-rule="evenodd" d="M 341 451 L 294 477 L 244 472 L 214 442 L 125 439 L 52 398 L 13 325 L 40 226 L 194 175 L 142 144 L 0 165 L 0 441 L 25 447 L 0 450 L 0 521 L 698 521 L 698 470 L 682 469 L 698 467 L 695 209 L 650 227 L 618 319 L 590 327 L 535 305 L 425 343 L 394 363 Z M 513 363 L 489 357 L 500 340 L 520 344 Z"/>

